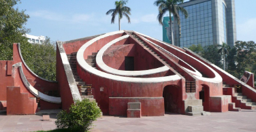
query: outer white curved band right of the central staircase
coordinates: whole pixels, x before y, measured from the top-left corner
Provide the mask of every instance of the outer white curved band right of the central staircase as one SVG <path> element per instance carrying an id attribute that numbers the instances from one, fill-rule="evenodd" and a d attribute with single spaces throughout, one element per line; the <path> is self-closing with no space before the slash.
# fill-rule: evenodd
<path id="1" fill-rule="evenodd" d="M 138 32 L 135 31 L 135 33 L 138 33 Z M 155 40 L 155 41 L 157 41 L 157 42 L 159 42 L 159 43 L 161 43 L 161 44 L 164 44 L 165 46 L 168 46 L 167 44 L 165 44 L 165 43 L 163 43 L 163 42 L 161 42 L 161 41 L 159 41 L 159 40 L 157 40 L 157 39 L 154 39 L 154 38 L 149 37 L 149 36 L 147 36 L 147 35 L 144 35 L 144 34 L 142 34 L 142 33 L 138 33 L 138 34 L 139 34 L 139 35 L 142 35 L 142 36 L 144 36 L 144 37 L 148 37 L 148 38 L 150 38 L 150 39 L 153 39 L 153 40 Z M 161 46 L 159 46 L 159 47 L 161 47 Z M 178 50 L 177 48 L 174 48 L 174 47 L 172 47 L 172 46 L 168 46 L 168 47 L 173 48 L 174 50 L 176 50 L 176 51 L 178 51 L 178 52 L 182 52 L 181 50 Z M 216 71 L 214 71 L 211 67 L 208 67 L 208 65 L 202 63 L 201 61 L 195 59 L 193 56 L 191 56 L 191 55 L 189 55 L 189 54 L 187 54 L 187 53 L 185 53 L 185 52 L 182 52 L 182 54 L 186 54 L 187 56 L 191 57 L 191 59 L 194 59 L 194 60 L 197 61 L 198 63 L 201 63 L 202 65 L 204 65 L 205 67 L 207 67 L 210 71 L 212 71 L 212 73 L 214 73 L 214 75 L 215 75 L 214 78 L 204 78 L 204 77 L 200 77 L 200 76 L 195 76 L 195 78 L 197 78 L 197 79 L 199 79 L 199 80 L 202 80 L 202 81 L 205 81 L 205 82 L 213 82 L 213 83 L 220 83 L 220 82 L 222 82 L 222 78 L 221 78 L 221 76 L 219 75 L 219 73 L 217 73 Z"/>

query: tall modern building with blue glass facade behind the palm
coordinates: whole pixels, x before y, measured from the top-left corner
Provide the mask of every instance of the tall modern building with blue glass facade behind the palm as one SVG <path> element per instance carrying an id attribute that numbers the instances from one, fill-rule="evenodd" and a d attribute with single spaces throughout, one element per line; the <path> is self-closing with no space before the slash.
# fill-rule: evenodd
<path id="1" fill-rule="evenodd" d="M 236 42 L 236 14 L 234 0 L 191 0 L 180 3 L 189 17 L 179 12 L 180 30 L 174 18 L 174 41 L 176 46 L 195 44 L 208 46 Z"/>

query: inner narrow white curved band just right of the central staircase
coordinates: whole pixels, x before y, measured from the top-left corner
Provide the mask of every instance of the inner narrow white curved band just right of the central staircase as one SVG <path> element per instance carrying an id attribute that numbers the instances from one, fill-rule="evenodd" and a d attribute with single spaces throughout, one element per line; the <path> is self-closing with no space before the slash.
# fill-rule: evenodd
<path id="1" fill-rule="evenodd" d="M 141 36 L 142 37 L 142 36 Z M 151 44 L 153 44 L 154 46 L 157 46 L 158 48 L 161 48 L 161 46 L 158 46 L 157 44 L 151 42 L 150 40 L 146 39 L 145 37 L 142 37 L 143 39 L 145 39 L 146 41 L 150 42 Z M 178 58 L 176 55 L 172 54 L 171 52 L 165 50 L 164 48 L 161 48 L 161 50 L 164 50 L 165 52 L 167 52 L 168 54 L 171 54 L 172 56 L 174 56 L 176 59 L 179 59 L 180 61 L 182 61 L 183 63 L 185 63 L 186 65 L 188 65 L 189 67 L 191 67 L 191 65 L 189 65 L 188 63 L 186 63 L 185 61 L 183 61 L 182 59 Z M 182 67 L 182 66 L 181 66 Z M 193 73 L 196 76 L 201 76 L 202 77 L 202 73 L 200 73 L 199 71 L 197 71 L 194 67 L 191 67 L 191 69 L 193 69 L 194 71 L 191 71 L 190 69 L 187 69 L 185 67 L 182 67 L 184 69 L 186 69 L 187 71 L 189 71 L 190 73 Z"/>

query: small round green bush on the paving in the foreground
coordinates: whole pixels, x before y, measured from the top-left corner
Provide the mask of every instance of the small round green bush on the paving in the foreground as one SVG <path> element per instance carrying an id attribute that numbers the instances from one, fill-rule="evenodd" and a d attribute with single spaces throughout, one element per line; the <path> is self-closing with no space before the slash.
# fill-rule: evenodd
<path id="1" fill-rule="evenodd" d="M 75 101 L 69 108 L 61 111 L 57 115 L 55 124 L 58 129 L 70 129 L 71 131 L 89 131 L 93 124 L 101 114 L 101 110 L 97 107 L 95 101 L 90 102 L 89 99 Z"/>

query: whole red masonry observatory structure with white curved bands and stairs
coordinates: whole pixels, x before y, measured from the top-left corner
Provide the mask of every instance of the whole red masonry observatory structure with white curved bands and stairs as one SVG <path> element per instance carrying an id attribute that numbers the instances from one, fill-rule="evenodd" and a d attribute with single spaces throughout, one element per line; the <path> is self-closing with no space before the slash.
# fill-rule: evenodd
<path id="1" fill-rule="evenodd" d="M 67 110 L 84 98 L 105 115 L 127 117 L 256 108 L 253 73 L 238 80 L 187 48 L 135 31 L 57 42 L 57 82 L 35 75 L 19 44 L 13 56 L 0 61 L 0 110 L 7 115 Z"/>

